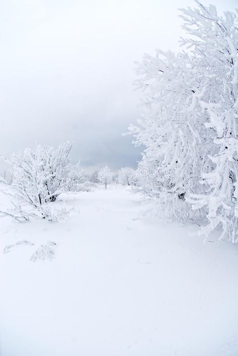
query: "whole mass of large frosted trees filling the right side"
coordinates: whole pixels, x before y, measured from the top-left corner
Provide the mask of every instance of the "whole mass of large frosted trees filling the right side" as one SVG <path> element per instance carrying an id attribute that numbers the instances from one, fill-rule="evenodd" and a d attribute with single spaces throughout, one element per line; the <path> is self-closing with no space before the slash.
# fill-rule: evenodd
<path id="1" fill-rule="evenodd" d="M 221 238 L 235 241 L 237 16 L 219 17 L 214 6 L 196 3 L 180 15 L 187 52 L 158 50 L 138 63 L 146 112 L 130 130 L 135 144 L 146 146 L 140 166 L 149 167 L 160 208 L 183 221 L 207 219 L 205 234 L 221 226 Z"/>

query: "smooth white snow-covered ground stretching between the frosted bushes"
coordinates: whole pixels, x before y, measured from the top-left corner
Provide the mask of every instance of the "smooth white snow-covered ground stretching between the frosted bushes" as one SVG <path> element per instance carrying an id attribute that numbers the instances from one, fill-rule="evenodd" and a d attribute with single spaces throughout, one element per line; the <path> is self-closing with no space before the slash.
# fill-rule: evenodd
<path id="1" fill-rule="evenodd" d="M 141 219 L 125 189 L 61 199 L 67 221 L 0 220 L 2 251 L 34 243 L 1 252 L 1 356 L 237 356 L 237 246 Z"/>

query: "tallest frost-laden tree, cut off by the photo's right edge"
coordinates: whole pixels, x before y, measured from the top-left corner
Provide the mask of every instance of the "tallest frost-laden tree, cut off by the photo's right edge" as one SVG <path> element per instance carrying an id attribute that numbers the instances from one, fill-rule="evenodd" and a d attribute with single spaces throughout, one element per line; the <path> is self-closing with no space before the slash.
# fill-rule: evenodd
<path id="1" fill-rule="evenodd" d="M 210 169 L 203 170 L 206 194 L 191 194 L 193 208 L 208 208 L 206 235 L 222 227 L 220 238 L 237 240 L 238 182 L 238 19 L 226 12 L 217 15 L 214 6 L 182 10 L 184 30 L 192 39 L 183 44 L 192 48 L 199 65 L 202 90 L 194 90 L 194 101 L 207 116 L 205 127 L 211 132 L 213 150 L 209 151 Z M 201 85 L 200 85 L 201 86 Z"/>

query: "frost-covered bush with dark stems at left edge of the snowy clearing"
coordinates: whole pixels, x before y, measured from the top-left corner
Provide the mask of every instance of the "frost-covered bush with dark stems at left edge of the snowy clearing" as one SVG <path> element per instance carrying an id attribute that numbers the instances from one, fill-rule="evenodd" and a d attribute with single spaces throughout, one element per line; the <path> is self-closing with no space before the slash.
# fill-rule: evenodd
<path id="1" fill-rule="evenodd" d="M 78 165 L 69 162 L 71 148 L 72 142 L 66 142 L 57 149 L 37 145 L 34 150 L 14 153 L 8 160 L 13 183 L 6 183 L 3 189 L 12 197 L 13 209 L 1 212 L 2 216 L 10 215 L 19 221 L 31 216 L 55 221 L 67 213 L 53 209 L 51 203 L 59 194 L 77 190 L 83 179 Z"/>

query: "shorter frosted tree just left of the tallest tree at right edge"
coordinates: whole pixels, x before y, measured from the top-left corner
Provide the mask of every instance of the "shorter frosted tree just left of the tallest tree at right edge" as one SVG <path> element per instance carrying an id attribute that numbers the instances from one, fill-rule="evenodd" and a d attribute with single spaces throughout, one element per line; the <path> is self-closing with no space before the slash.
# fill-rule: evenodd
<path id="1" fill-rule="evenodd" d="M 207 161 L 211 139 L 204 134 L 206 115 L 194 102 L 199 86 L 192 59 L 185 53 L 157 51 L 138 64 L 138 87 L 145 93 L 145 115 L 140 127 L 131 126 L 136 145 L 146 149 L 140 169 L 148 171 L 144 180 L 150 196 L 160 197 L 159 210 L 167 217 L 186 221 L 203 212 L 182 204 L 185 197 L 204 191 L 199 183 Z"/>

